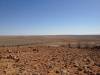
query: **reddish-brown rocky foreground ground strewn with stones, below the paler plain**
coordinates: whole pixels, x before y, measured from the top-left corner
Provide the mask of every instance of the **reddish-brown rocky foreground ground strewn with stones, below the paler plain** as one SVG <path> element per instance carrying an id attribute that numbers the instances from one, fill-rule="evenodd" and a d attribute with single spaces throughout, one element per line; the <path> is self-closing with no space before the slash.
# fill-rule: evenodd
<path id="1" fill-rule="evenodd" d="M 0 47 L 0 75 L 100 75 L 100 49 Z"/>

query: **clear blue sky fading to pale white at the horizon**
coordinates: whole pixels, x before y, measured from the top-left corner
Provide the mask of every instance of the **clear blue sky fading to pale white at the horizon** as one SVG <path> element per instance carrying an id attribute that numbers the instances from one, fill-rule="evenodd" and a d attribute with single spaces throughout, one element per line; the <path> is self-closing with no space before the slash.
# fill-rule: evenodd
<path id="1" fill-rule="evenodd" d="M 100 34 L 100 0 L 0 0 L 0 35 Z"/>

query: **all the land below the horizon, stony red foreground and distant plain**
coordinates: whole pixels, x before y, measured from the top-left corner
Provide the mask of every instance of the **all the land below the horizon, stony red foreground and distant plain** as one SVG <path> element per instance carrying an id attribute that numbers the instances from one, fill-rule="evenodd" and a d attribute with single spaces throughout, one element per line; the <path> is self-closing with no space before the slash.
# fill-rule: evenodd
<path id="1" fill-rule="evenodd" d="M 99 41 L 100 36 L 1 36 L 0 75 L 100 75 Z"/>

